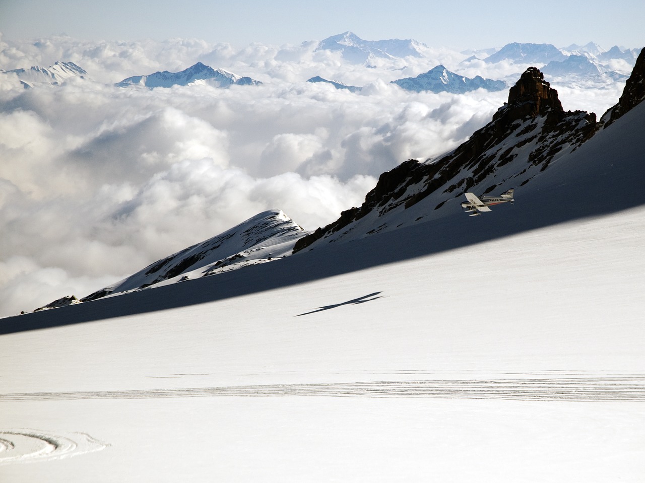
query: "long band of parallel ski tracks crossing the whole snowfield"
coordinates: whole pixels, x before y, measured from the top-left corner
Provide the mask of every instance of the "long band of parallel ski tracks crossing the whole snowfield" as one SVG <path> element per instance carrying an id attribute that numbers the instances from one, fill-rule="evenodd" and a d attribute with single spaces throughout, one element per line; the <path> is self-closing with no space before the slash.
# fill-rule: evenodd
<path id="1" fill-rule="evenodd" d="M 41 392 L 0 395 L 1 401 L 159 399 L 172 397 L 430 397 L 528 401 L 645 401 L 645 375 L 541 379 L 403 380 L 325 384 L 263 384 L 213 388 Z M 3 434 L 0 433 L 0 437 Z"/>

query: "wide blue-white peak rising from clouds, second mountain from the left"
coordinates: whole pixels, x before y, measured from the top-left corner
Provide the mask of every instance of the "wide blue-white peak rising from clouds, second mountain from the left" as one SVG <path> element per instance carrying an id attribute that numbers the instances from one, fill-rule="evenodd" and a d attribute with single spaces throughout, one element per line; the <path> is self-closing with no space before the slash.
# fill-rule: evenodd
<path id="1" fill-rule="evenodd" d="M 210 66 L 198 62 L 181 72 L 154 72 L 148 75 L 135 75 L 123 79 L 123 81 L 114 84 L 117 87 L 146 87 L 154 89 L 155 87 L 172 87 L 186 86 L 188 84 L 203 82 L 217 88 L 227 88 L 233 84 L 239 86 L 258 85 L 260 81 L 255 81 L 250 77 L 241 77 L 223 69 L 213 69 Z"/>

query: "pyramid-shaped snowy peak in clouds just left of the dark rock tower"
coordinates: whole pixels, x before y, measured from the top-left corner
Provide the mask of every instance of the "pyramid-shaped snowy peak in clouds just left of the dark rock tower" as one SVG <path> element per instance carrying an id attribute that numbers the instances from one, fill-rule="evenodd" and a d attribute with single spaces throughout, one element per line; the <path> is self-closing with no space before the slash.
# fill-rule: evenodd
<path id="1" fill-rule="evenodd" d="M 396 81 L 392 81 L 392 84 L 397 84 L 397 86 L 405 90 L 412 90 L 414 92 L 429 90 L 432 92 L 452 92 L 453 94 L 464 94 L 465 92 L 479 88 L 491 91 L 506 88 L 504 81 L 484 79 L 479 75 L 470 79 L 469 77 L 450 72 L 450 70 L 442 65 L 438 65 L 424 74 L 419 74 L 417 77 L 397 79 Z"/>

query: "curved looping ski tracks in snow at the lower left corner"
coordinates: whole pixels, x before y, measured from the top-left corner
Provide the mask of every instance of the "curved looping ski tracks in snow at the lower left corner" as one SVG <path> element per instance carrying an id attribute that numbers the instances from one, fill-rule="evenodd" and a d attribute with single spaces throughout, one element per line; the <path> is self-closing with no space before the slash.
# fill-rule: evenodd
<path id="1" fill-rule="evenodd" d="M 36 429 L 0 429 L 0 465 L 68 458 L 110 446 L 86 433 L 54 435 Z"/>

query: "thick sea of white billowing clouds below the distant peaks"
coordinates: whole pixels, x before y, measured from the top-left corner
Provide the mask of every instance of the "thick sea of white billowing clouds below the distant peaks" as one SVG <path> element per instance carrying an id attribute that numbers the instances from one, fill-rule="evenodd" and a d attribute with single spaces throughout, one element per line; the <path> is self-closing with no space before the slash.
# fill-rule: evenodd
<path id="1" fill-rule="evenodd" d="M 316 47 L 0 37 L 2 70 L 72 61 L 89 77 L 24 89 L 0 73 L 0 316 L 88 295 L 269 208 L 323 226 L 359 206 L 380 173 L 461 144 L 508 96 L 390 81 L 442 63 L 512 84 L 525 68 L 430 48 L 367 68 Z M 197 61 L 263 84 L 114 86 Z M 315 75 L 363 89 L 306 82 Z M 558 89 L 565 109 L 600 115 L 623 85 Z"/>

